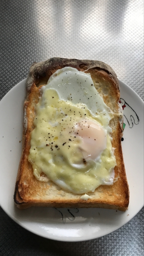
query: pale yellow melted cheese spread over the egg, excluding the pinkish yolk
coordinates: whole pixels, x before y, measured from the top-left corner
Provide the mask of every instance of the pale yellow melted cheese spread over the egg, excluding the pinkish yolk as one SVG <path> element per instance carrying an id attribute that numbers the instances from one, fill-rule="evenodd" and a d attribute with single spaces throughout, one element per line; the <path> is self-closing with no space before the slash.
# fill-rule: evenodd
<path id="1" fill-rule="evenodd" d="M 75 74 L 80 72 L 75 69 L 73 71 L 72 68 L 64 68 L 64 72 L 68 71 L 70 71 L 69 76 L 71 77 L 74 72 L 76 72 Z M 61 75 L 62 70 L 59 72 Z M 84 72 L 81 73 L 83 73 L 83 77 L 87 75 Z M 57 79 L 58 74 L 57 71 Z M 64 74 L 62 76 L 64 77 Z M 55 79 L 53 74 L 44 87 L 43 94 L 36 106 L 35 128 L 31 135 L 31 149 L 28 158 L 37 179 L 47 181 L 46 177 L 41 177 L 41 173 L 44 173 L 64 190 L 76 194 L 94 191 L 100 185 L 112 185 L 115 175 L 114 167 L 116 166 L 111 145 L 111 128 L 108 126 L 113 114 L 100 96 L 97 100 L 98 93 L 92 86 L 91 76 L 89 75 L 90 81 L 86 78 L 87 76 L 84 80 L 86 81 L 85 88 L 87 86 L 88 91 L 93 87 L 95 102 L 97 103 L 99 100 L 101 109 L 99 107 L 97 109 L 95 105 L 91 110 L 91 104 L 87 107 L 87 102 L 84 100 L 82 103 L 74 103 L 74 101 L 72 103 L 67 97 L 61 99 L 59 91 L 52 86 L 51 81 Z M 60 79 L 58 87 L 62 86 Z M 70 79 L 67 79 L 67 84 L 69 81 Z M 82 82 L 79 81 L 80 87 Z M 106 137 L 104 148 L 102 151 L 99 150 L 98 157 L 95 159 L 91 158 L 91 154 L 90 157 L 84 159 L 81 147 L 84 138 L 79 136 L 77 130 L 77 124 L 83 121 L 93 122 L 99 126 L 103 130 L 103 137 Z M 81 127 L 81 129 L 83 128 Z M 100 147 L 100 145 L 97 146 Z"/>

